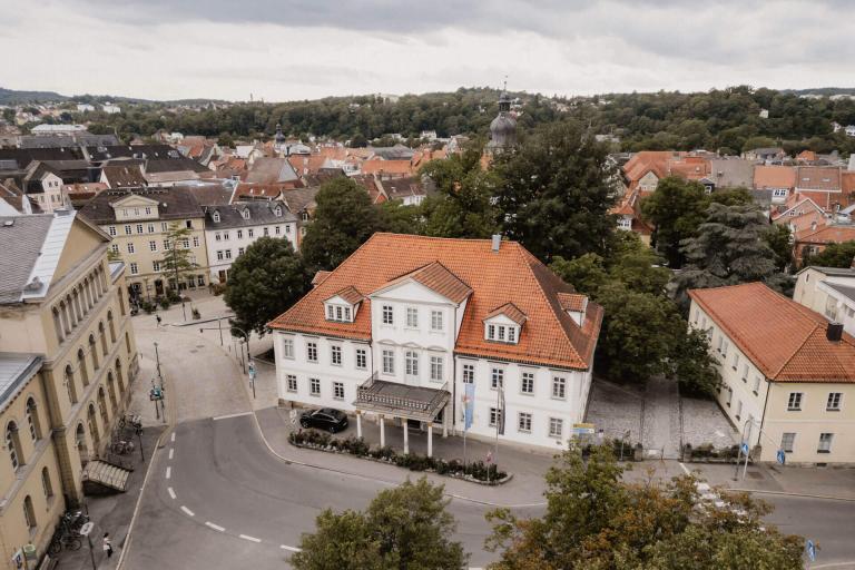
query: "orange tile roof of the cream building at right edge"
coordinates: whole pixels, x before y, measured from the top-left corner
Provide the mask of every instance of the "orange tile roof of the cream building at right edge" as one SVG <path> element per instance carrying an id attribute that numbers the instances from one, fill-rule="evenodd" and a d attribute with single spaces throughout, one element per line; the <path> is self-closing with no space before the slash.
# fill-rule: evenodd
<path id="1" fill-rule="evenodd" d="M 826 338 L 828 321 L 763 283 L 689 296 L 751 362 L 778 382 L 855 382 L 855 340 Z"/>

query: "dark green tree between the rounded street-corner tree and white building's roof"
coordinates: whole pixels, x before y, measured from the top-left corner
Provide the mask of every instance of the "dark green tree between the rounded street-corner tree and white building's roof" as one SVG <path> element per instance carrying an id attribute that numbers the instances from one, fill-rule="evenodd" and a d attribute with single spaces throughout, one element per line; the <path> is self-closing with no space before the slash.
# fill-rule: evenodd
<path id="1" fill-rule="evenodd" d="M 333 269 L 382 229 L 381 213 L 371 204 L 365 188 L 350 178 L 334 178 L 321 185 L 317 208 L 301 245 L 312 269 Z"/>

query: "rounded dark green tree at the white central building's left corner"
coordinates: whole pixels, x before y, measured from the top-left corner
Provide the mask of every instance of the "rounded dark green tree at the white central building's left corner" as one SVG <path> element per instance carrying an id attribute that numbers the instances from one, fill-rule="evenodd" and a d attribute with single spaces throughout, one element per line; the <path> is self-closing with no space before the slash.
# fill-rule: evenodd
<path id="1" fill-rule="evenodd" d="M 237 326 L 264 334 L 265 325 L 306 292 L 308 272 L 285 238 L 262 237 L 232 264 L 225 302 Z"/>

